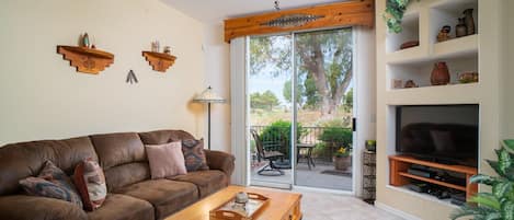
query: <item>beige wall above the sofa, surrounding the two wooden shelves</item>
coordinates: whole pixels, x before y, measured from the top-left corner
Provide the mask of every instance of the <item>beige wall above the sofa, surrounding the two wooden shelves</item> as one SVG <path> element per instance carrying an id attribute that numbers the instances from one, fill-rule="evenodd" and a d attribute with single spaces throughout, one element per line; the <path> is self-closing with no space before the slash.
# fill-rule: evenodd
<path id="1" fill-rule="evenodd" d="M 56 45 L 88 32 L 115 55 L 99 76 L 77 73 Z M 202 137 L 203 25 L 158 0 L 3 0 L 0 7 L 0 146 L 98 132 L 180 128 Z M 150 42 L 178 56 L 167 73 L 141 57 Z M 127 84 L 133 69 L 139 84 Z"/>

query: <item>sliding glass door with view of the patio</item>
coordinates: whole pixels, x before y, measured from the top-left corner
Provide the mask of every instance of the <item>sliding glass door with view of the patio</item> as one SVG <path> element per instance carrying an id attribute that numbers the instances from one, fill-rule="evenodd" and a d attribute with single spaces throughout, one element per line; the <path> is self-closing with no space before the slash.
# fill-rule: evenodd
<path id="1" fill-rule="evenodd" d="M 352 190 L 352 28 L 249 38 L 252 185 Z"/>

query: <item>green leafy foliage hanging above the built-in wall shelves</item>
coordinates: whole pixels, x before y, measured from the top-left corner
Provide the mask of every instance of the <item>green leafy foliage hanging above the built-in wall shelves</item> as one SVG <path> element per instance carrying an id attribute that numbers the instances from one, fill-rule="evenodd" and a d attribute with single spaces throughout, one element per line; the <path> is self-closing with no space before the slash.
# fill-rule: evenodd
<path id="1" fill-rule="evenodd" d="M 401 20 L 411 0 L 387 0 L 386 12 L 382 16 L 390 33 L 400 33 L 402 31 Z"/>

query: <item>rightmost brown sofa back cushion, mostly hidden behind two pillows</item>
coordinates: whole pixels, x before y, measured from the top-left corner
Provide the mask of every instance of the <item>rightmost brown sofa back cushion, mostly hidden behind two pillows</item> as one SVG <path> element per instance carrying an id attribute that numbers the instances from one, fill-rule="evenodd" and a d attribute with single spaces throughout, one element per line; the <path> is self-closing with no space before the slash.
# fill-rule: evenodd
<path id="1" fill-rule="evenodd" d="M 156 130 L 150 132 L 140 132 L 139 137 L 141 137 L 142 142 L 148 146 L 195 139 L 191 134 L 184 130 Z"/>

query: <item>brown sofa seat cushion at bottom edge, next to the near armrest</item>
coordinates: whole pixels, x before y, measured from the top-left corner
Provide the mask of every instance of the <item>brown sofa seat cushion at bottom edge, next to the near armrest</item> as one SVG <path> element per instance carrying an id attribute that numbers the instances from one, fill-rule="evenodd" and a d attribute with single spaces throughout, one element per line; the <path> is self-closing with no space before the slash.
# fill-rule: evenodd
<path id="1" fill-rule="evenodd" d="M 102 207 L 88 212 L 89 220 L 155 220 L 148 201 L 119 194 L 108 194 Z"/>

